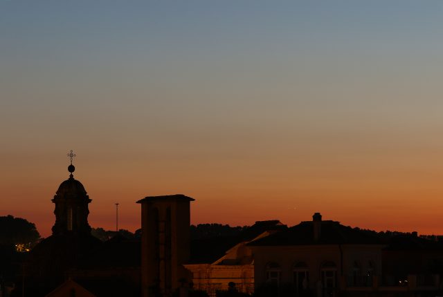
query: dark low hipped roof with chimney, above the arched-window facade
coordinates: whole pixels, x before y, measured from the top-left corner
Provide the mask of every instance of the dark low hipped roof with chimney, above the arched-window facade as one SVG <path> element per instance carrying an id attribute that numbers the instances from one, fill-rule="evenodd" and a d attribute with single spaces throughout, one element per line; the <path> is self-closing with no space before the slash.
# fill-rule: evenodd
<path id="1" fill-rule="evenodd" d="M 383 244 L 377 234 L 343 226 L 332 220 L 320 221 L 320 238 L 314 239 L 314 222 L 301 222 L 286 231 L 250 242 L 250 246 Z"/>

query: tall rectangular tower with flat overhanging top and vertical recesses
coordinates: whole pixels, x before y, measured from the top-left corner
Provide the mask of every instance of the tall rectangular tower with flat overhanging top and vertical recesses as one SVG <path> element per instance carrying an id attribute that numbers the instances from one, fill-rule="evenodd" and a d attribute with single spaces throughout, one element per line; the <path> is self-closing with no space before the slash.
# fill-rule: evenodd
<path id="1" fill-rule="evenodd" d="M 186 195 L 146 197 L 141 204 L 143 297 L 172 296 L 189 282 L 190 202 Z M 159 295 L 160 294 L 160 295 Z"/>

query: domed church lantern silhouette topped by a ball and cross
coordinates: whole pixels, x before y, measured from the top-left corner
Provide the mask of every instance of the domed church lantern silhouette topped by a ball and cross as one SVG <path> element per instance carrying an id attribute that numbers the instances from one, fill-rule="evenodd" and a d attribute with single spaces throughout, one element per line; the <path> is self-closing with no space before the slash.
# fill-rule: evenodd
<path id="1" fill-rule="evenodd" d="M 74 179 L 75 166 L 72 164 L 75 154 L 71 150 L 68 154 L 71 164 L 68 171 L 71 173 L 69 179 L 60 184 L 52 200 L 55 203 L 55 224 L 52 228 L 53 235 L 64 235 L 67 233 L 91 234 L 88 223 L 89 199 L 81 182 Z"/>

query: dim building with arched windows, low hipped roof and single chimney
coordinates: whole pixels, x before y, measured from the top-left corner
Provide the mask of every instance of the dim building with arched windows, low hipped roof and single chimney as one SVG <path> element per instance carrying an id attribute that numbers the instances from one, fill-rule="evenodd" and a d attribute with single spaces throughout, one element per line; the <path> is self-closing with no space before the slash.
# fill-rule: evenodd
<path id="1" fill-rule="evenodd" d="M 323 221 L 315 213 L 249 244 L 254 253 L 255 290 L 332 296 L 345 287 L 372 287 L 381 275 L 385 245 L 364 231 Z"/>

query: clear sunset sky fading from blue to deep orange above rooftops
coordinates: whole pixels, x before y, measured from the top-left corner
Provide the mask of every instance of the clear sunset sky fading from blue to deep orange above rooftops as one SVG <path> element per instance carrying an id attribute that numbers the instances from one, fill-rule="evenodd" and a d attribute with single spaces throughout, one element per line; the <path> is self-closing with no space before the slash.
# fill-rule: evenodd
<path id="1" fill-rule="evenodd" d="M 0 215 L 443 233 L 443 1 L 0 0 Z"/>

